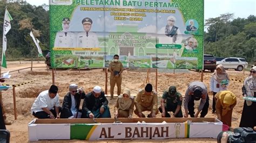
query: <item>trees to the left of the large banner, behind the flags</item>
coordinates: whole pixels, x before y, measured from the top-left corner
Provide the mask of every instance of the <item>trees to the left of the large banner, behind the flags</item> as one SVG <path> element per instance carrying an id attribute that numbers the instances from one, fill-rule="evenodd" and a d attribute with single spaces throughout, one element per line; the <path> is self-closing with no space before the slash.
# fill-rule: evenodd
<path id="1" fill-rule="evenodd" d="M 12 17 L 11 30 L 6 34 L 7 50 L 6 58 L 38 58 L 35 43 L 30 37 L 33 30 L 35 37 L 40 41 L 39 45 L 46 55 L 49 51 L 49 11 L 42 6 L 32 6 L 28 3 L 0 2 L 0 34 L 3 34 L 3 20 L 5 6 Z M 35 34 L 36 33 L 36 34 Z M 2 40 L 0 40 L 2 45 Z M 2 52 L 2 46 L 1 52 Z"/>

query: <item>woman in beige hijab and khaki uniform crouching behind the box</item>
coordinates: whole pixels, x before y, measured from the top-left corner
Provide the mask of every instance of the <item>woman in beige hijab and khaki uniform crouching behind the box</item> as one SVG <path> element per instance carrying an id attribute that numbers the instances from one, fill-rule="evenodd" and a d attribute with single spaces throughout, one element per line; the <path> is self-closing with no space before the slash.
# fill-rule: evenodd
<path id="1" fill-rule="evenodd" d="M 132 119 L 134 110 L 134 99 L 130 95 L 130 89 L 124 89 L 123 95 L 119 95 L 114 105 L 114 116 L 118 118 Z"/>

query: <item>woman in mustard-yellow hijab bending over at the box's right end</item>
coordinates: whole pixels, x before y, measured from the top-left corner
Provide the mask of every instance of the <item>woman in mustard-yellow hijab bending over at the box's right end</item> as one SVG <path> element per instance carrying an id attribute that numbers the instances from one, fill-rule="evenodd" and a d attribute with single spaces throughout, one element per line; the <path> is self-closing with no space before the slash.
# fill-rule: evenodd
<path id="1" fill-rule="evenodd" d="M 237 104 L 237 97 L 231 91 L 219 91 L 215 96 L 216 112 L 218 119 L 223 124 L 231 126 L 232 112 L 235 104 Z"/>

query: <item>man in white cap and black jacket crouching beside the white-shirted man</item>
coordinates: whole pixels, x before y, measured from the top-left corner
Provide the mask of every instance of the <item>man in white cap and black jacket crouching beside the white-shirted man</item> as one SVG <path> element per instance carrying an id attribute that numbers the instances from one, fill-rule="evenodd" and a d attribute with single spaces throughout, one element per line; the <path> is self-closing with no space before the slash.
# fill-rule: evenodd
<path id="1" fill-rule="evenodd" d="M 82 88 L 78 88 L 77 84 L 69 85 L 69 92 L 65 95 L 62 104 L 62 113 L 60 118 L 80 118 L 82 110 L 79 110 L 81 99 L 85 98 Z"/>

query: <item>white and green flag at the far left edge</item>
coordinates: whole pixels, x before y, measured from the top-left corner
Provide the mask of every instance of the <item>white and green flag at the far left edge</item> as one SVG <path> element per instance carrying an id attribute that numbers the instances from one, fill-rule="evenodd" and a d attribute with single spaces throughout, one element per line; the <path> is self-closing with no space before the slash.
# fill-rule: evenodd
<path id="1" fill-rule="evenodd" d="M 7 39 L 6 39 L 6 34 L 9 32 L 11 29 L 11 15 L 8 12 L 7 9 L 5 9 L 4 13 L 4 26 L 3 26 L 3 51 L 2 51 L 2 64 L 1 66 L 4 68 L 7 68 L 6 64 L 6 59 L 5 59 L 5 51 L 6 51 L 6 44 L 7 44 Z"/>

